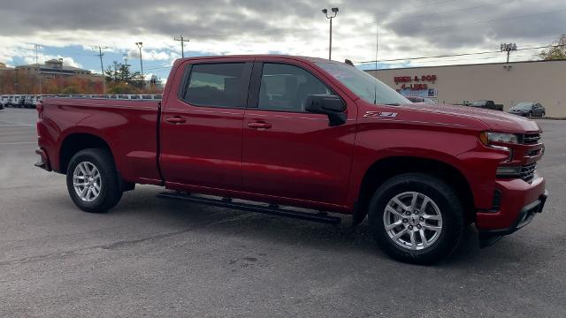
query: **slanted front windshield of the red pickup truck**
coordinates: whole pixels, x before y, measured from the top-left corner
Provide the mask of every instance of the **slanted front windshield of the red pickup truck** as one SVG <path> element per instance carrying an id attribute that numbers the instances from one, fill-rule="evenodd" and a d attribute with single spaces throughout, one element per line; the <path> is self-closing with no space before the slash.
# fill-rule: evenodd
<path id="1" fill-rule="evenodd" d="M 340 80 L 354 94 L 366 102 L 374 104 L 406 104 L 408 99 L 395 92 L 391 87 L 374 78 L 367 72 L 360 71 L 348 64 L 317 63 L 320 68 Z"/>

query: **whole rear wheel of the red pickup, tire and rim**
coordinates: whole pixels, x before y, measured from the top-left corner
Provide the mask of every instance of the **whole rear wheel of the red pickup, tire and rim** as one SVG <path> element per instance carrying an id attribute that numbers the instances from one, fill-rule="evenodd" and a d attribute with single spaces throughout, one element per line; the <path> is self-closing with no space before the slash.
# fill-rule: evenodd
<path id="1" fill-rule="evenodd" d="M 122 197 L 118 171 L 111 154 L 99 148 L 80 150 L 67 168 L 67 190 L 81 210 L 103 213 Z"/>

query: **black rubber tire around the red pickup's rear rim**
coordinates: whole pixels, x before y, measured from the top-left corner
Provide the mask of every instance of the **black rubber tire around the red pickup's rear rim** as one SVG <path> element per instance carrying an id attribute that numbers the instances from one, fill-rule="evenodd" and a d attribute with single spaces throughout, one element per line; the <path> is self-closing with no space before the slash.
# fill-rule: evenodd
<path id="1" fill-rule="evenodd" d="M 80 163 L 91 163 L 100 173 L 100 190 L 96 199 L 84 201 L 73 186 L 73 174 Z M 74 204 L 81 210 L 91 213 L 103 213 L 114 208 L 122 197 L 118 171 L 111 154 L 104 149 L 89 148 L 73 155 L 67 168 L 67 190 Z"/>

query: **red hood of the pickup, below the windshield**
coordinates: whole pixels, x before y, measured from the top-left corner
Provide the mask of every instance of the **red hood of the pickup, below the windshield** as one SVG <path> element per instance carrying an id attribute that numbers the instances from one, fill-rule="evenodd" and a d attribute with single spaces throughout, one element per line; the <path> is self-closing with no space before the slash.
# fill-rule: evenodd
<path id="1" fill-rule="evenodd" d="M 406 104 L 401 107 L 408 110 L 476 119 L 488 125 L 493 132 L 533 133 L 540 130 L 539 125 L 530 119 L 499 110 L 486 110 L 447 104 Z"/>

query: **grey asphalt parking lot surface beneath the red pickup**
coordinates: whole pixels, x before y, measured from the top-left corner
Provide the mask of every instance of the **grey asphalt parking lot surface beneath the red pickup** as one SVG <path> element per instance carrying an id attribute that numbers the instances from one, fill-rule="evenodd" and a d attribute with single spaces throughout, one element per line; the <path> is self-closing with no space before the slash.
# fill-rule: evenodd
<path id="1" fill-rule="evenodd" d="M 0 110 L 0 316 L 566 316 L 566 121 L 538 120 L 551 197 L 495 246 L 477 233 L 447 261 L 392 261 L 340 225 L 125 193 L 75 208 L 33 166 L 34 110 Z"/>

